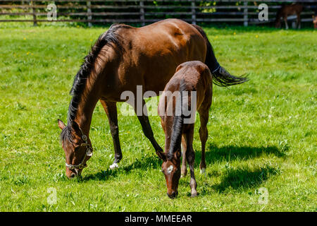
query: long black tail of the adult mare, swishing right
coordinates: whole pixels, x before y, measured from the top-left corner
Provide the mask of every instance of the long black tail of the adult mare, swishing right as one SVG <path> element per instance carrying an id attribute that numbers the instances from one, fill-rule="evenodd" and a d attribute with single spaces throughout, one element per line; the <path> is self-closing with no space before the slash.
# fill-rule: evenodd
<path id="1" fill-rule="evenodd" d="M 225 69 L 220 66 L 218 63 L 215 54 L 213 53 L 213 47 L 211 46 L 211 43 L 208 40 L 208 37 L 204 30 L 202 30 L 201 27 L 198 25 L 193 25 L 194 28 L 196 28 L 200 34 L 204 37 L 204 40 L 207 44 L 207 54 L 206 54 L 206 60 L 205 64 L 209 67 L 209 70 L 213 74 L 213 83 L 219 86 L 229 86 L 229 85 L 237 85 L 240 83 L 244 83 L 248 81 L 247 78 L 244 78 L 242 76 L 236 77 L 232 76 L 228 71 L 225 71 Z"/>

